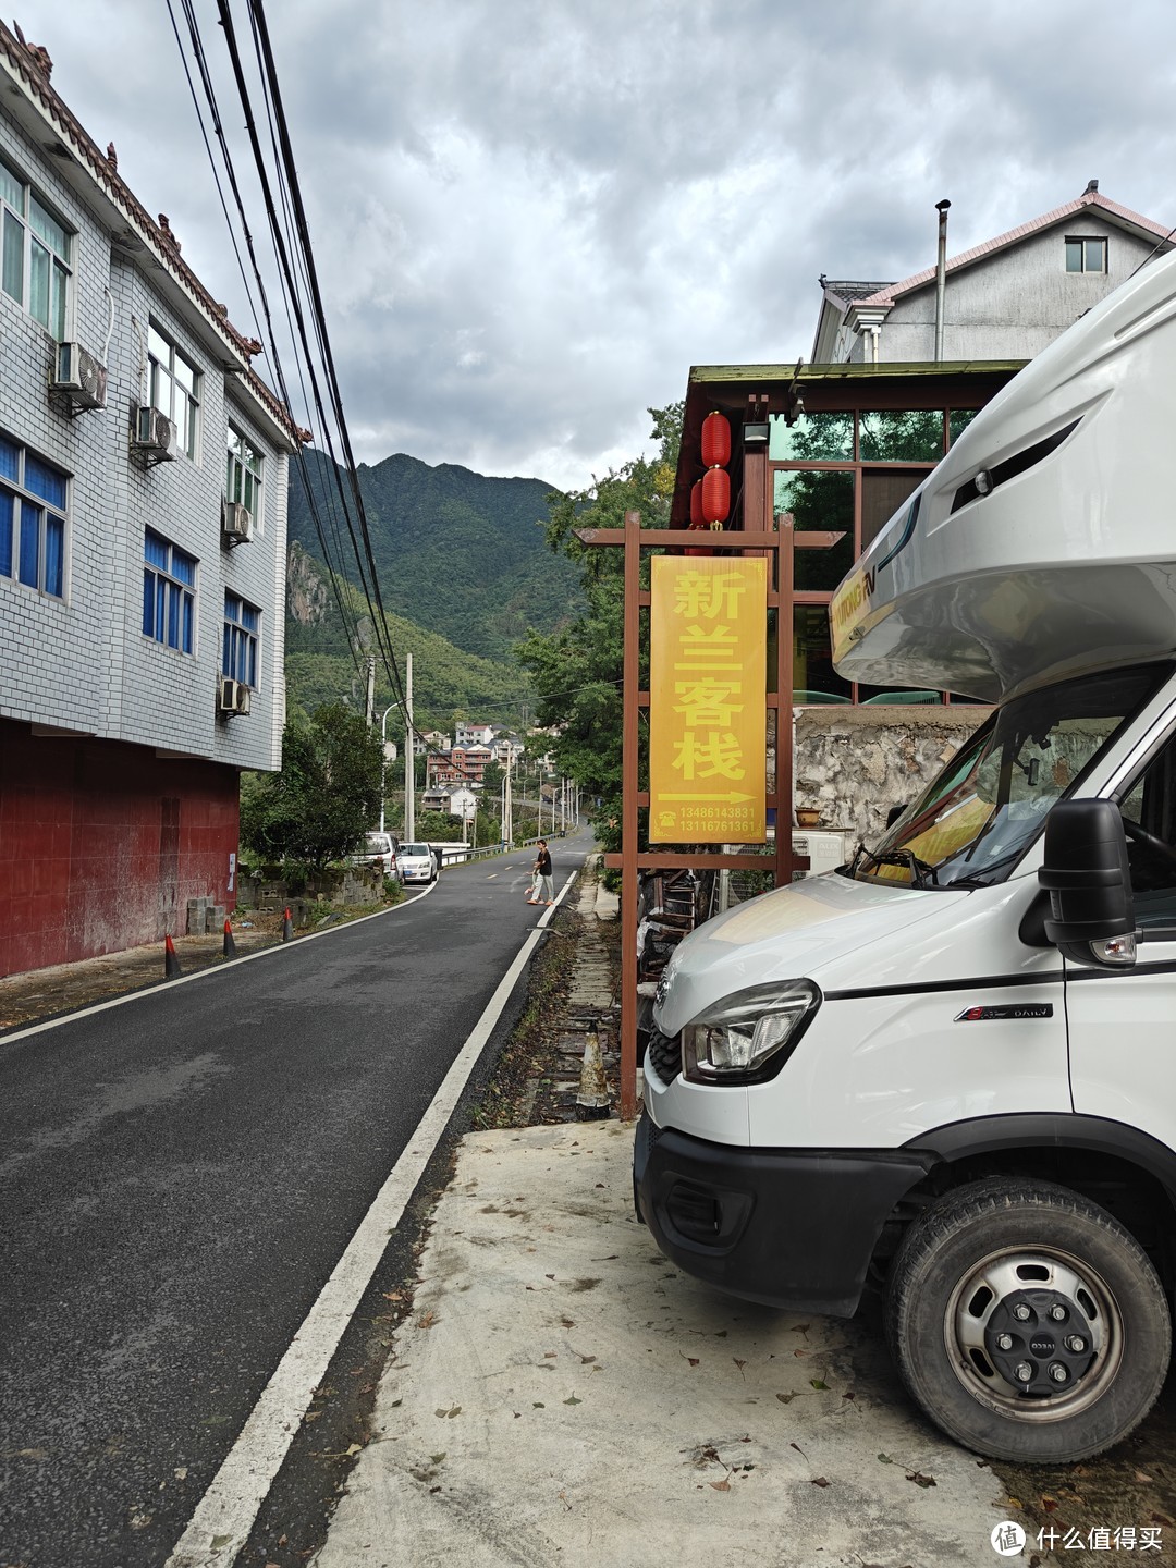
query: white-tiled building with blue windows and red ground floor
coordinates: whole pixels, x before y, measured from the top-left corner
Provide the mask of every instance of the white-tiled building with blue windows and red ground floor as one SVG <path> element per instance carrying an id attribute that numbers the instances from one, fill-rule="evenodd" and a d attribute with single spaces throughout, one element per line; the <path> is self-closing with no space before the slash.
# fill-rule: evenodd
<path id="1" fill-rule="evenodd" d="M 232 905 L 284 724 L 298 433 L 50 69 L 0 25 L 0 974 Z"/>

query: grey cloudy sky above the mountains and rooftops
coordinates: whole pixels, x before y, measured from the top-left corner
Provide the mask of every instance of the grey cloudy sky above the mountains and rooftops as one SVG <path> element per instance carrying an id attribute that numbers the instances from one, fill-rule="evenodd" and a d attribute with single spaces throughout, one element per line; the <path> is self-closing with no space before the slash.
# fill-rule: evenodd
<path id="1" fill-rule="evenodd" d="M 216 5 L 193 3 L 243 168 Z M 251 334 L 168 0 L 14 5 Z M 691 364 L 809 358 L 820 273 L 931 265 L 944 196 L 952 254 L 1091 177 L 1176 226 L 1167 0 L 270 0 L 267 19 L 370 463 L 586 486 L 646 450 L 646 406 Z"/>

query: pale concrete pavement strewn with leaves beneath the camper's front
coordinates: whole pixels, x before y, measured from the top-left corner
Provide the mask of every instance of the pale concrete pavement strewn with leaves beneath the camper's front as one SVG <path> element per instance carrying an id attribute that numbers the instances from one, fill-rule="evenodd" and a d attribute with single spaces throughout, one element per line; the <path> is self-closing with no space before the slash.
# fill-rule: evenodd
<path id="1" fill-rule="evenodd" d="M 877 1327 L 677 1273 L 632 1137 L 464 1140 L 317 1568 L 996 1560 L 997 1477 L 914 1417 Z"/>

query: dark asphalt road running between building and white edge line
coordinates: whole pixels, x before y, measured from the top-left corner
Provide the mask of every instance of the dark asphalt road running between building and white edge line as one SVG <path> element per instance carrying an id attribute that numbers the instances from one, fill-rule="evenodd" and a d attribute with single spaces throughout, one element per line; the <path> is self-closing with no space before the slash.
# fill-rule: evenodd
<path id="1" fill-rule="evenodd" d="M 530 862 L 0 1040 L 0 1568 L 165 1562 L 533 928 Z"/>

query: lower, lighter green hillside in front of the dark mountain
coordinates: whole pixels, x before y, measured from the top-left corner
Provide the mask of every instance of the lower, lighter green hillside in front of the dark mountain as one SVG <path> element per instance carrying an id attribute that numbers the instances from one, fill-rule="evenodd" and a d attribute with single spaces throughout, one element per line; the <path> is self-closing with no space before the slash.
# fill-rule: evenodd
<path id="1" fill-rule="evenodd" d="M 292 707 L 299 706 L 312 713 L 325 702 L 340 698 L 361 709 L 365 702 L 364 654 L 376 646 L 372 621 L 359 588 L 343 582 L 340 593 L 348 624 L 359 632 L 359 670 L 325 568 L 301 544 L 292 543 L 285 597 L 285 685 Z M 533 704 L 527 676 L 513 662 L 467 654 L 436 632 L 398 615 L 389 615 L 387 626 L 401 676 L 405 654 L 412 654 L 412 698 L 419 728 L 447 726 L 455 709 L 489 723 L 514 723 L 522 706 L 528 701 Z M 383 712 L 397 696 L 378 665 L 376 710 Z M 389 735 L 394 734 L 398 735 L 398 731 L 389 729 Z"/>

